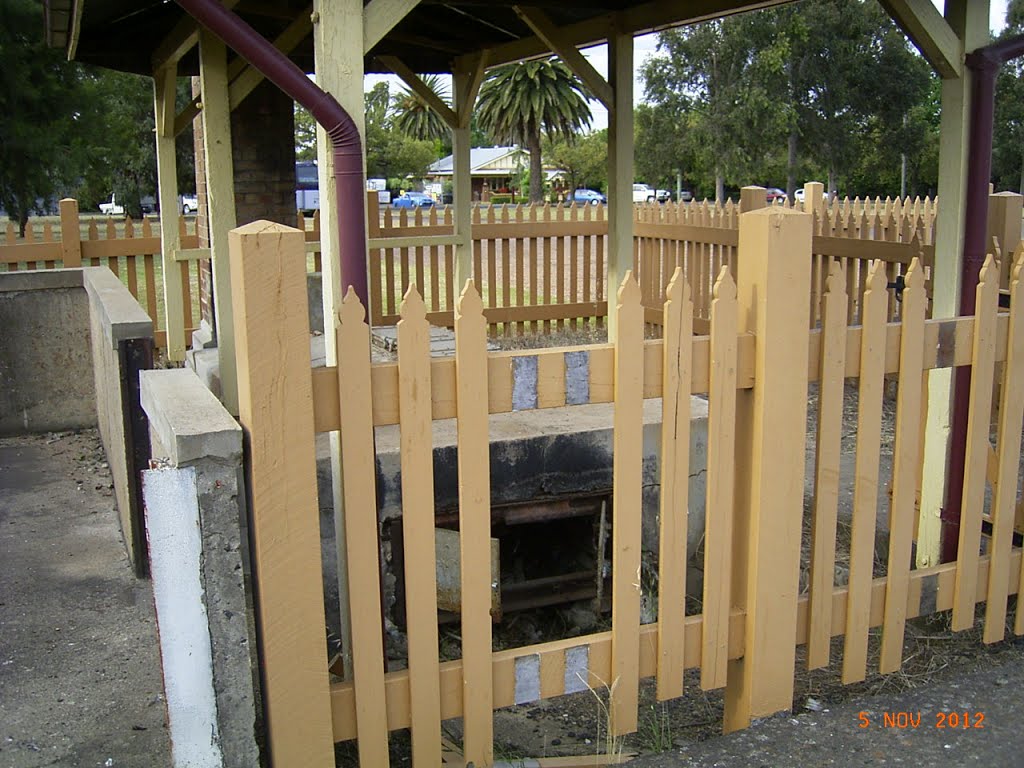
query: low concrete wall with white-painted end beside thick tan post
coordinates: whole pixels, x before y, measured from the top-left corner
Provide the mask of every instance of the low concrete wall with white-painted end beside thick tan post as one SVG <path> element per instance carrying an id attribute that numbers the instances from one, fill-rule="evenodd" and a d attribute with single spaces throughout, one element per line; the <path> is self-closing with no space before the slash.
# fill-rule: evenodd
<path id="1" fill-rule="evenodd" d="M 141 389 L 159 464 L 142 475 L 175 765 L 259 765 L 242 429 L 190 370 L 147 371 Z"/>

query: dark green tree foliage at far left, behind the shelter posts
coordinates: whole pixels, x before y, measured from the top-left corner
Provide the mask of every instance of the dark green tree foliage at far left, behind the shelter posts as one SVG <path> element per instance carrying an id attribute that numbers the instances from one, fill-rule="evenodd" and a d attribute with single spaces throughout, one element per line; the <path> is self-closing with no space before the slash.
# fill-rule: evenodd
<path id="1" fill-rule="evenodd" d="M 47 48 L 42 7 L 0 3 L 0 207 L 23 229 L 57 197 L 83 210 L 115 194 L 135 215 L 157 188 L 153 81 L 65 60 Z M 179 100 L 188 98 L 179 83 Z M 178 184 L 196 188 L 191 129 L 177 140 Z"/>

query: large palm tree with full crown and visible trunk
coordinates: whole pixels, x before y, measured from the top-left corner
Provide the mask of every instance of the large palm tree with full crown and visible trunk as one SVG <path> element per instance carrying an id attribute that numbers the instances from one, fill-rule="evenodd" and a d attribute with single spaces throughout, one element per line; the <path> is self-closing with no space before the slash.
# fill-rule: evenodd
<path id="1" fill-rule="evenodd" d="M 590 126 L 589 96 L 557 58 L 497 67 L 480 86 L 480 125 L 499 141 L 523 144 L 529 152 L 530 202 L 543 196 L 541 134 L 571 141 Z"/>

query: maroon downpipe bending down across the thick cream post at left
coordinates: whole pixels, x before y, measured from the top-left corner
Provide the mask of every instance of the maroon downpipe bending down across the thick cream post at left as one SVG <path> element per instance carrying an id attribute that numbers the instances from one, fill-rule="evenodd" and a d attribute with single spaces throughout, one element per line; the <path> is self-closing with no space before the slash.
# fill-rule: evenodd
<path id="1" fill-rule="evenodd" d="M 176 0 L 200 24 L 230 46 L 285 93 L 309 110 L 331 138 L 334 178 L 338 187 L 338 243 L 342 287 L 348 286 L 367 308 L 366 180 L 359 131 L 348 113 L 316 87 L 288 56 L 274 48 L 242 18 L 217 0 Z"/>

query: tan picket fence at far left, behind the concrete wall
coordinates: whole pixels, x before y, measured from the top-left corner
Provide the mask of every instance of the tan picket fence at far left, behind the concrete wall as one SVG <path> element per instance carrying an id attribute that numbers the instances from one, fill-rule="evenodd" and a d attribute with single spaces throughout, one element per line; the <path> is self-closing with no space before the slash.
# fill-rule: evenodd
<path id="1" fill-rule="evenodd" d="M 178 232 L 182 249 L 199 246 L 195 223 L 189 229 L 185 218 L 179 217 Z M 160 254 L 160 233 L 154 232 L 148 218 L 135 222 L 131 217 L 117 221 L 108 217 L 102 221 L 92 219 L 83 225 L 77 201 L 62 200 L 59 239 L 54 237 L 53 225 L 49 221 L 43 222 L 42 226 L 30 223 L 24 240 L 18 239 L 14 223 L 7 222 L 4 242 L 0 243 L 0 270 L 105 266 L 121 279 L 153 318 L 157 346 L 166 347 Z M 176 263 L 181 270 L 181 322 L 188 335 L 199 323 L 200 275 L 195 262 L 182 260 Z"/>

